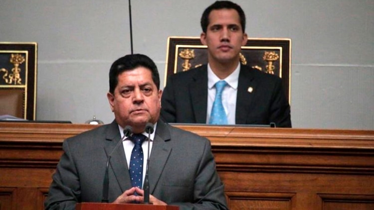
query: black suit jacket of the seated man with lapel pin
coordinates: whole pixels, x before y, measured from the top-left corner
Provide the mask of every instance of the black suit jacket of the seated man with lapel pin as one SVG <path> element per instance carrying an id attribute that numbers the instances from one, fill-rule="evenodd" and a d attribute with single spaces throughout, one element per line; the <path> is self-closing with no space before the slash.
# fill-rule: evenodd
<path id="1" fill-rule="evenodd" d="M 162 119 L 171 123 L 206 123 L 207 87 L 207 65 L 170 76 L 161 101 Z M 281 79 L 241 65 L 235 124 L 271 122 L 277 127 L 291 127 L 290 105 Z"/>

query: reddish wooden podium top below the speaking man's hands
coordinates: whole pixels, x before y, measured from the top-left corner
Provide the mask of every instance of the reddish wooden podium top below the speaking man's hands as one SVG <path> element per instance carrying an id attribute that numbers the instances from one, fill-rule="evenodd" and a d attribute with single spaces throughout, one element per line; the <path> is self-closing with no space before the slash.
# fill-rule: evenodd
<path id="1" fill-rule="evenodd" d="M 80 203 L 76 205 L 75 210 L 179 210 L 179 207 L 149 204 Z"/>

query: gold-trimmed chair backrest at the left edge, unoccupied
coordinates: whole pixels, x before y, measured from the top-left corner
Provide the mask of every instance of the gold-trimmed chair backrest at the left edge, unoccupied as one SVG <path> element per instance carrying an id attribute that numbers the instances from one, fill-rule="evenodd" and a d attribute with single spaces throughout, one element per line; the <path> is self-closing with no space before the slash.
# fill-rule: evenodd
<path id="1" fill-rule="evenodd" d="M 0 42 L 0 115 L 35 120 L 36 43 Z"/>

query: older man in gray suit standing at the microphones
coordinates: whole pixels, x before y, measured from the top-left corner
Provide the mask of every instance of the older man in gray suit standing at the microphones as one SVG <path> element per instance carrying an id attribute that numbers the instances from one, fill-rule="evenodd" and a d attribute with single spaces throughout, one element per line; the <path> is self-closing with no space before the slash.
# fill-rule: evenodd
<path id="1" fill-rule="evenodd" d="M 150 122 L 155 132 L 150 138 L 149 202 L 177 205 L 181 210 L 226 210 L 209 140 L 159 120 L 162 91 L 155 63 L 140 54 L 119 58 L 110 69 L 109 83 L 107 98 L 115 120 L 63 142 L 46 209 L 74 210 L 76 203 L 100 202 L 109 155 L 109 202 L 143 203 L 145 173 L 141 172 L 146 167 L 134 184 L 129 168 L 136 143 L 126 136 L 123 146 L 120 141 L 126 127 L 132 127 L 134 136 L 142 136 Z M 141 165 L 145 165 L 147 141 L 140 147 Z"/>

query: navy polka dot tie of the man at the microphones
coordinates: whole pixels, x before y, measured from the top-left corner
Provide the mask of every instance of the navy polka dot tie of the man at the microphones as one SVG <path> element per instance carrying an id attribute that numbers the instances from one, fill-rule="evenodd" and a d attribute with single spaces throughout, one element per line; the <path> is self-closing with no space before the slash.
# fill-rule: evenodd
<path id="1" fill-rule="evenodd" d="M 143 134 L 134 134 L 129 137 L 135 144 L 131 152 L 129 173 L 133 187 L 142 188 L 143 182 L 143 141 L 147 138 Z"/>

